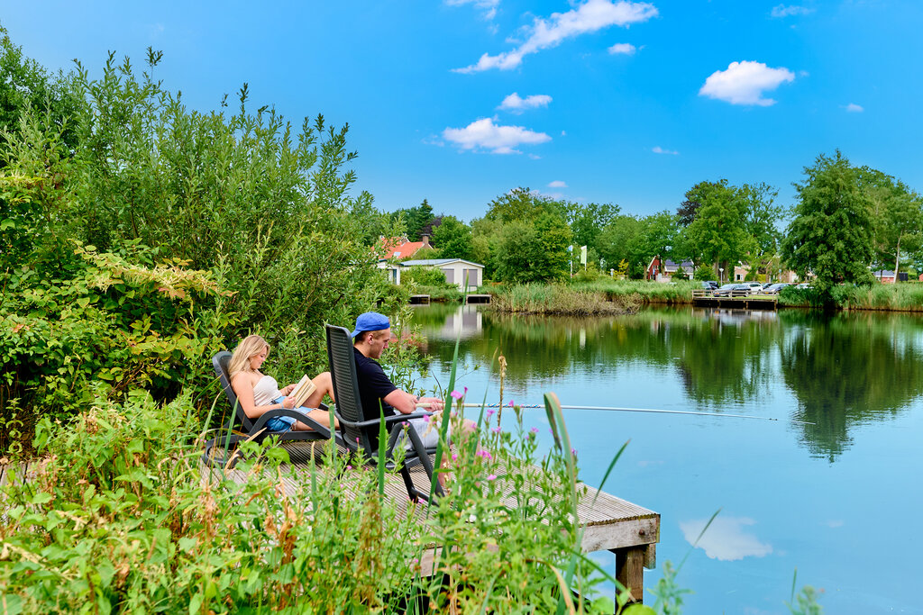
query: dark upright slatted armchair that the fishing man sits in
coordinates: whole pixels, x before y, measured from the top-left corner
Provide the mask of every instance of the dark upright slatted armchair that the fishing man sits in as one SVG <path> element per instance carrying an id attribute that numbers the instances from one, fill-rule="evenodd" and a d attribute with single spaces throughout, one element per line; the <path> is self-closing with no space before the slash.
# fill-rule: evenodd
<path id="1" fill-rule="evenodd" d="M 327 356 L 330 359 L 330 376 L 333 381 L 333 396 L 336 404 L 333 407 L 336 417 L 340 420 L 342 445 L 355 455 L 361 456 L 365 463 L 378 463 L 378 446 L 373 443 L 378 441 L 378 432 L 381 420 L 366 420 L 363 414 L 359 396 L 359 384 L 355 373 L 355 356 L 353 339 L 349 330 L 342 326 L 327 325 Z M 395 444 L 403 442 L 401 434 L 404 432 L 404 422 L 410 419 L 419 419 L 426 416 L 426 412 L 414 414 L 399 414 L 385 416 L 385 431 L 389 433 L 388 444 L 385 447 L 385 457 L 388 466 L 394 466 Z M 435 487 L 435 494 L 441 496 L 443 491 L 438 481 L 433 483 L 433 460 L 436 449 L 427 449 L 420 439 L 420 434 L 414 429 L 406 430 L 410 439 L 411 448 L 406 451 L 403 462 L 398 467 L 407 495 L 414 502 L 428 502 L 429 492 L 420 491 L 414 487 L 409 467 L 420 464 L 426 471 L 428 481 Z"/>

